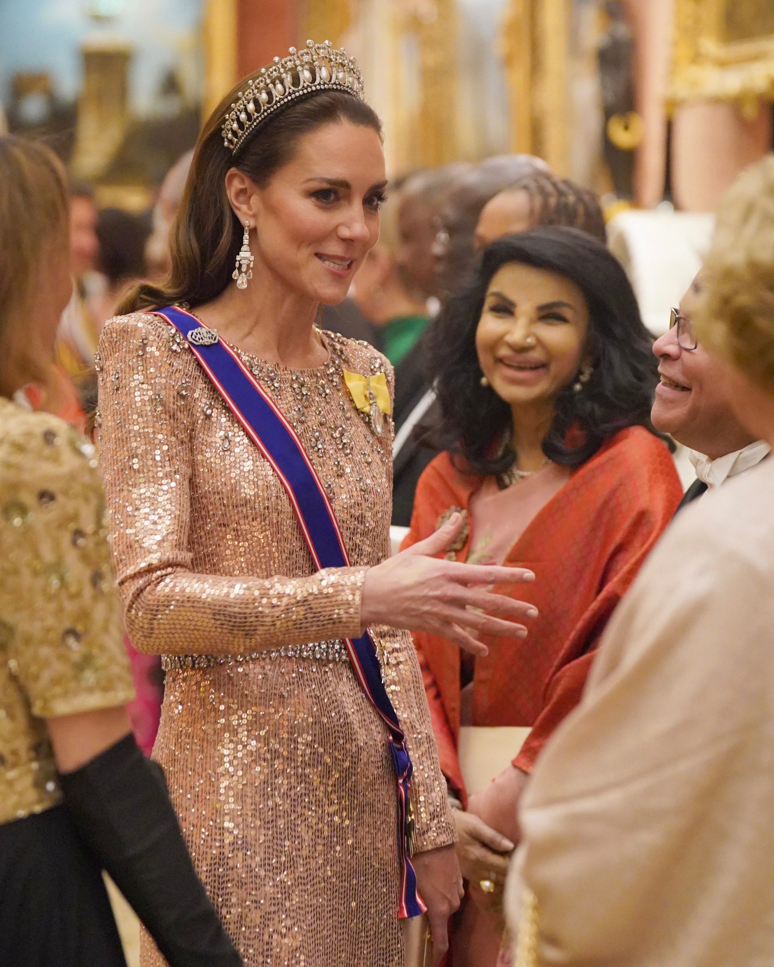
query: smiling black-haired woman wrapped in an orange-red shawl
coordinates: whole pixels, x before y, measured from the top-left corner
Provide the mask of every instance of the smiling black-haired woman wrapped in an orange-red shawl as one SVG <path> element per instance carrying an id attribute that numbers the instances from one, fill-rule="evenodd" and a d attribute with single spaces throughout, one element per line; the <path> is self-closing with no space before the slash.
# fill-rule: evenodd
<path id="1" fill-rule="evenodd" d="M 522 785 L 580 700 L 610 614 L 682 496 L 650 424 L 651 343 L 615 258 L 562 227 L 492 243 L 432 334 L 447 450 L 420 478 L 404 546 L 461 511 L 467 527 L 447 556 L 534 571 L 520 597 L 539 612 L 526 639 L 486 635 L 486 657 L 461 658 L 443 635 L 414 636 L 441 769 L 467 806 L 455 817 L 473 902 L 455 967 L 496 958 L 492 908 L 519 839 Z M 469 800 L 461 725 L 531 727 L 505 758 L 513 764 Z"/>

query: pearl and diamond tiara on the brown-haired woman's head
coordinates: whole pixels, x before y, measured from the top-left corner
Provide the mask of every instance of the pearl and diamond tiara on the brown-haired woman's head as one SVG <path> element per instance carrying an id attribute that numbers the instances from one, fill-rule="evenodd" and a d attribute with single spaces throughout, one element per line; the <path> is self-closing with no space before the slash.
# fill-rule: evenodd
<path id="1" fill-rule="evenodd" d="M 235 154 L 261 121 L 313 91 L 346 91 L 362 100 L 363 78 L 343 47 L 307 41 L 302 50 L 290 47 L 287 57 L 275 57 L 273 64 L 262 67 L 225 115 L 223 146 Z"/>

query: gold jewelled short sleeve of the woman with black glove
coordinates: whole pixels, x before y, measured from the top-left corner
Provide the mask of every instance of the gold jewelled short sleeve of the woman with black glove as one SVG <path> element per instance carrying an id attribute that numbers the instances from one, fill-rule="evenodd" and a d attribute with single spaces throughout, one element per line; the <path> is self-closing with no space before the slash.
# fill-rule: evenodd
<path id="1" fill-rule="evenodd" d="M 48 414 L 0 440 L 0 655 L 39 718 L 134 698 L 96 468 Z"/>

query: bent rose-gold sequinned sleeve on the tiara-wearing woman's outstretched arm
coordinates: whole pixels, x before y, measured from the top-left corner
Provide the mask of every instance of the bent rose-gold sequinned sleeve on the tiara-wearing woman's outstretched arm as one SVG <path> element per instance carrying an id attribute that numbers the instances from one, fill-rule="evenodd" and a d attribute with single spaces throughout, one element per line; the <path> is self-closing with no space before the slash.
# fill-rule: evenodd
<path id="1" fill-rule="evenodd" d="M 197 366 L 159 319 L 135 314 L 104 328 L 100 458 L 134 647 L 156 655 L 238 655 L 359 634 L 365 568 L 306 577 L 194 570 L 198 404 L 187 387 L 198 383 Z"/>

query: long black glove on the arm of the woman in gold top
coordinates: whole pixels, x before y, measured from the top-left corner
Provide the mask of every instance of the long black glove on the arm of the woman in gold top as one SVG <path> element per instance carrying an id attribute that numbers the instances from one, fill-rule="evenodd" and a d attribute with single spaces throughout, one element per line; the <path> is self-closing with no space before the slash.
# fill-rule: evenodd
<path id="1" fill-rule="evenodd" d="M 196 876 L 164 770 L 134 736 L 59 781 L 78 835 L 170 967 L 243 967 Z"/>

